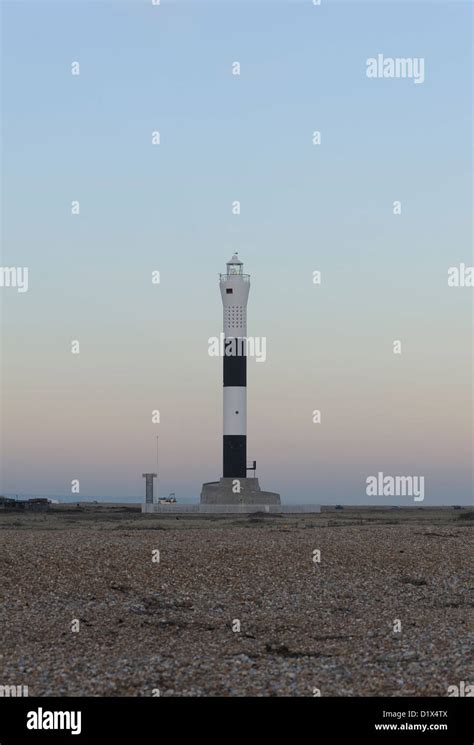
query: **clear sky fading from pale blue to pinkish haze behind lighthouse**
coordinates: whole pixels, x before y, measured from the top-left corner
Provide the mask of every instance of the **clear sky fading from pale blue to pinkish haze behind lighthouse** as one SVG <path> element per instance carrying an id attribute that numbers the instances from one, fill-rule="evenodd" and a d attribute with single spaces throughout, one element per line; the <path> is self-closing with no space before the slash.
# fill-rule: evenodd
<path id="1" fill-rule="evenodd" d="M 139 495 L 158 433 L 163 491 L 217 478 L 207 338 L 238 250 L 248 332 L 268 337 L 268 362 L 249 362 L 263 487 L 362 502 L 383 470 L 425 475 L 426 503 L 467 501 L 472 290 L 446 277 L 472 263 L 470 4 L 2 2 L 2 16 L 2 263 L 28 266 L 30 289 L 1 291 L 0 488 L 64 494 L 80 474 L 84 494 Z M 368 79 L 378 53 L 423 57 L 425 82 Z"/>

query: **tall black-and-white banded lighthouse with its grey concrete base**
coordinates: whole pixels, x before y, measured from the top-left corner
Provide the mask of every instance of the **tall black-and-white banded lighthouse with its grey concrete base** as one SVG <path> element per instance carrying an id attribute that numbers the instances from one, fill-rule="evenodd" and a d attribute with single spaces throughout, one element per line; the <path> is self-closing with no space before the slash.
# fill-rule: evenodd
<path id="1" fill-rule="evenodd" d="M 280 504 L 280 495 L 264 492 L 247 478 L 247 302 L 250 275 L 237 253 L 219 275 L 223 306 L 222 478 L 203 484 L 201 504 Z M 255 463 L 253 464 L 255 469 Z"/>

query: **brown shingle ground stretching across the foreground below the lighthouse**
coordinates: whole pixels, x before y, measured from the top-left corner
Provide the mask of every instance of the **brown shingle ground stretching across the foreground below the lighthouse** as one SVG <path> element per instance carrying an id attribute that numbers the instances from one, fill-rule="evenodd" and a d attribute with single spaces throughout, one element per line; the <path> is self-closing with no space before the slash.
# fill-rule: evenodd
<path id="1" fill-rule="evenodd" d="M 472 678 L 472 517 L 5 514 L 0 683 L 30 696 L 446 696 Z"/>

